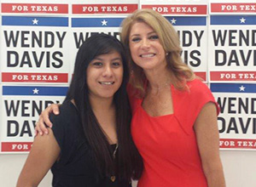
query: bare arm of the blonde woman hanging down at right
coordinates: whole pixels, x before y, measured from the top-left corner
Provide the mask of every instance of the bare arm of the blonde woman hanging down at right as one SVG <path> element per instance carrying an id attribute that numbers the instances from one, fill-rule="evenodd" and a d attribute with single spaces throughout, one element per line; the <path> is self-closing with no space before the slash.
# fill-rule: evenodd
<path id="1" fill-rule="evenodd" d="M 224 187 L 224 171 L 219 157 L 217 110 L 212 102 L 202 108 L 194 128 L 208 186 Z"/>

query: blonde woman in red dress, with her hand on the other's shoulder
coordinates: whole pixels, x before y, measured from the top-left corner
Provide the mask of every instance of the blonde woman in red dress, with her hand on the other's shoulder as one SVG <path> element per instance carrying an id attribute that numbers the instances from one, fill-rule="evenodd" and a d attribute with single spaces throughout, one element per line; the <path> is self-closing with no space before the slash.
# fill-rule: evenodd
<path id="1" fill-rule="evenodd" d="M 140 9 L 122 23 L 131 66 L 132 138 L 143 156 L 139 187 L 224 187 L 218 105 L 181 59 L 177 32 L 159 13 Z M 37 126 L 46 131 L 50 106 Z M 43 121 L 44 118 L 44 122 Z"/>

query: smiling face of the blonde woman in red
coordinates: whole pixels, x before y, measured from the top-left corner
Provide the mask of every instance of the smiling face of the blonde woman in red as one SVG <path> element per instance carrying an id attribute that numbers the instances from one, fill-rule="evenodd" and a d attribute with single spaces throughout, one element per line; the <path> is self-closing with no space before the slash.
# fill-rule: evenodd
<path id="1" fill-rule="evenodd" d="M 166 66 L 166 53 L 157 33 L 147 24 L 131 26 L 129 47 L 133 61 L 144 71 Z"/>

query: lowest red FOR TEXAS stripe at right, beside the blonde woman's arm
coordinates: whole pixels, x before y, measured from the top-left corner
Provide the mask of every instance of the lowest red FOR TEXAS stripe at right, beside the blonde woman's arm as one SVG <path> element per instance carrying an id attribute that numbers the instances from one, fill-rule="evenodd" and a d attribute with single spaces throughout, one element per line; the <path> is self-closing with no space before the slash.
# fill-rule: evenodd
<path id="1" fill-rule="evenodd" d="M 256 149 L 256 139 L 219 139 L 220 148 Z"/>

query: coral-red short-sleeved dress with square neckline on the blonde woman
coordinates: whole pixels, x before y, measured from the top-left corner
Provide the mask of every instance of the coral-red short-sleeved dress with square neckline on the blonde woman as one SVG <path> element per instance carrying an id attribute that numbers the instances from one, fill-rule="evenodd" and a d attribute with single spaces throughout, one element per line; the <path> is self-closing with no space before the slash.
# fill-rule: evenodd
<path id="1" fill-rule="evenodd" d="M 200 80 L 188 82 L 188 86 L 189 91 L 171 86 L 174 112 L 166 116 L 149 116 L 143 110 L 143 99 L 133 97 L 128 88 L 131 134 L 144 163 L 138 187 L 207 186 L 193 125 L 203 105 L 216 102 Z"/>

